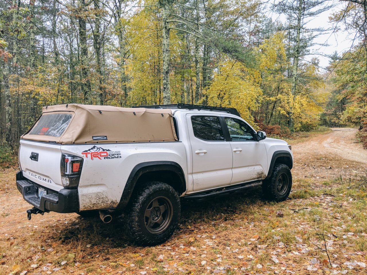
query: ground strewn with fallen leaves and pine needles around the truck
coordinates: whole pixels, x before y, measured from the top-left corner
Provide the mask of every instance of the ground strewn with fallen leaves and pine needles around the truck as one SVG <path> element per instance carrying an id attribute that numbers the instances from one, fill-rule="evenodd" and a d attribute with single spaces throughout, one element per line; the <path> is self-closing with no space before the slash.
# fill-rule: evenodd
<path id="1" fill-rule="evenodd" d="M 265 202 L 255 190 L 185 203 L 179 230 L 155 247 L 129 243 L 117 219 L 51 212 L 28 221 L 16 170 L 3 169 L 0 274 L 367 274 L 366 166 L 312 152 L 304 163 L 292 146 L 289 199 Z M 329 173 L 320 178 L 323 169 Z"/>

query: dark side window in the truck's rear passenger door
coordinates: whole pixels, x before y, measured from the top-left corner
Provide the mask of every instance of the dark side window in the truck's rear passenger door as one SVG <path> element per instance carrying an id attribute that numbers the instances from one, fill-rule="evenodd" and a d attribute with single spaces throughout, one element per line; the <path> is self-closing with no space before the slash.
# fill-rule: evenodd
<path id="1" fill-rule="evenodd" d="M 224 133 L 218 117 L 192 116 L 194 135 L 208 141 L 224 141 Z"/>

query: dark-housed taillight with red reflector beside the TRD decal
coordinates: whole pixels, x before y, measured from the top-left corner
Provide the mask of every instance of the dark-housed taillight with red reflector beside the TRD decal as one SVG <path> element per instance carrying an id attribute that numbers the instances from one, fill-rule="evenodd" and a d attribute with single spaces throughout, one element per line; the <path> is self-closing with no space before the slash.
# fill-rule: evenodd
<path id="1" fill-rule="evenodd" d="M 62 186 L 66 188 L 77 187 L 83 167 L 83 158 L 75 155 L 62 154 L 61 155 L 61 182 Z"/>

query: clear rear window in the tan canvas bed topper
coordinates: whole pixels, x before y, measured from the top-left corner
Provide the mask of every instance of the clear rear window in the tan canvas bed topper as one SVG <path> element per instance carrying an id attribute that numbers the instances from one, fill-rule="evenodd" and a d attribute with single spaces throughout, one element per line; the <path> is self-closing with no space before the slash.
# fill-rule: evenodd
<path id="1" fill-rule="evenodd" d="M 71 114 L 43 114 L 29 134 L 59 137 L 65 132 L 71 118 Z"/>

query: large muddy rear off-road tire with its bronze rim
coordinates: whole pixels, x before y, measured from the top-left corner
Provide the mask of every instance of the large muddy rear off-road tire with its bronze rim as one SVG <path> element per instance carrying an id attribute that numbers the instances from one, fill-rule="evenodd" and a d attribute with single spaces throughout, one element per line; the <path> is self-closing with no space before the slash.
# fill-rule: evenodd
<path id="1" fill-rule="evenodd" d="M 163 211 L 164 207 L 166 210 Z M 147 213 L 149 217 L 146 216 Z M 125 211 L 126 227 L 131 241 L 143 246 L 158 245 L 167 241 L 177 228 L 180 214 L 181 203 L 174 188 L 159 181 L 143 183 L 132 195 Z M 161 221 L 161 217 L 163 220 L 166 217 L 162 223 L 164 228 L 158 221 L 154 221 Z"/>

